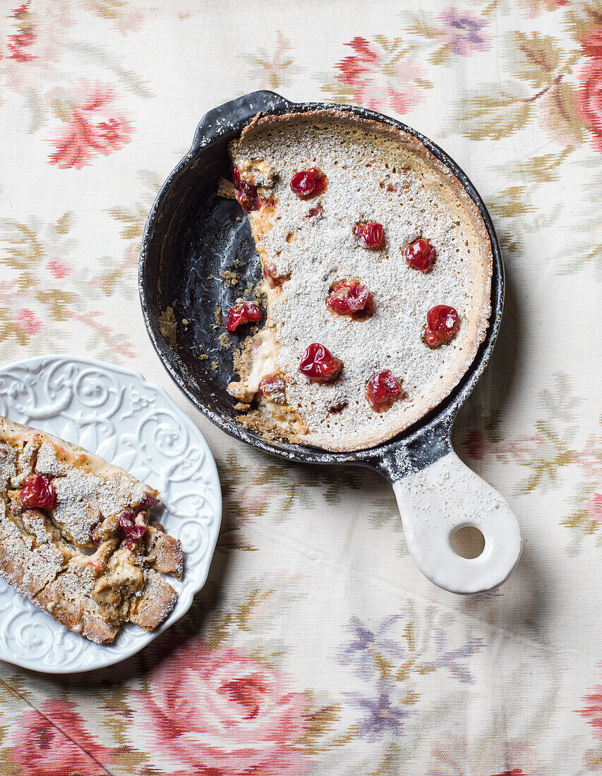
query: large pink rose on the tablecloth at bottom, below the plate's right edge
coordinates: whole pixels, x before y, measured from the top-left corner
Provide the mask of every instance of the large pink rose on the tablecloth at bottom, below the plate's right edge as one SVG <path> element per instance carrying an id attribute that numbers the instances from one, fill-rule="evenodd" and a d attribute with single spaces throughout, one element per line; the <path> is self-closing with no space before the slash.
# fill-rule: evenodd
<path id="1" fill-rule="evenodd" d="M 189 773 L 301 776 L 296 746 L 306 701 L 287 677 L 236 650 L 190 639 L 161 663 L 151 689 L 137 693 L 157 747 Z"/>

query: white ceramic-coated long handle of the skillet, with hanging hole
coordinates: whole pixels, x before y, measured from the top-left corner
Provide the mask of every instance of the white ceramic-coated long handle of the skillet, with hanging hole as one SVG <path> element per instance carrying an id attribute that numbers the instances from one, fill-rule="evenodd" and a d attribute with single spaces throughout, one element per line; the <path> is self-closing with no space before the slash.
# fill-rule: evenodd
<path id="1" fill-rule="evenodd" d="M 453 451 L 393 488 L 409 552 L 434 584 L 451 593 L 479 593 L 509 577 L 522 548 L 516 515 Z M 462 558 L 451 549 L 451 535 L 465 525 L 485 537 L 478 558 Z"/>

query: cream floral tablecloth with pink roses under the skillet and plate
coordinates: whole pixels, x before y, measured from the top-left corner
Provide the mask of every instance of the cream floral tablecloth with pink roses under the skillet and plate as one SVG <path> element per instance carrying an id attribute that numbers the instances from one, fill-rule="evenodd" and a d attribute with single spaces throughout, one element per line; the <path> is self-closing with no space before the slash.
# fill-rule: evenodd
<path id="1" fill-rule="evenodd" d="M 0 773 L 571 776 L 602 770 L 602 2 L 0 3 L 0 362 L 134 366 L 206 435 L 207 586 L 137 657 L 0 664 Z M 482 193 L 507 302 L 456 449 L 525 549 L 457 598 L 409 558 L 391 487 L 292 466 L 186 404 L 148 341 L 137 251 L 207 109 L 257 88 L 357 102 Z"/>

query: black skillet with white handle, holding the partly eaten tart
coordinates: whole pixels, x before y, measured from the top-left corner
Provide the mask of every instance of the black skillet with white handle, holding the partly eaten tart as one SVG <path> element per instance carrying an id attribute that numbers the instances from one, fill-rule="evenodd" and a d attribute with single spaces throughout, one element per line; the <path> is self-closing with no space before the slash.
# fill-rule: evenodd
<path id="1" fill-rule="evenodd" d="M 261 276 L 249 225 L 238 203 L 215 196 L 217 179 L 231 175 L 228 141 L 256 113 L 325 107 L 398 126 L 417 137 L 474 200 L 493 253 L 489 329 L 461 382 L 433 411 L 390 442 L 349 453 L 268 442 L 238 423 L 235 400 L 225 390 L 234 378 L 231 352 L 218 341 L 224 329 L 215 317 L 216 305 L 228 310 L 244 290 L 240 283 L 231 284 L 228 272 L 237 272 L 249 283 Z M 200 121 L 189 153 L 159 192 L 144 231 L 139 286 L 144 322 L 158 355 L 183 393 L 211 421 L 231 436 L 290 461 L 357 463 L 377 469 L 395 489 L 409 552 L 426 577 L 440 587 L 476 593 L 508 577 L 520 557 L 517 519 L 506 501 L 458 459 L 450 441 L 455 414 L 485 369 L 496 341 L 503 309 L 502 255 L 482 199 L 440 147 L 405 124 L 357 106 L 290 102 L 274 92 L 253 92 L 226 102 Z M 167 307 L 173 308 L 178 321 L 176 348 L 159 327 L 159 316 Z M 451 549 L 451 535 L 465 525 L 475 525 L 485 536 L 485 548 L 475 559 L 460 557 Z"/>

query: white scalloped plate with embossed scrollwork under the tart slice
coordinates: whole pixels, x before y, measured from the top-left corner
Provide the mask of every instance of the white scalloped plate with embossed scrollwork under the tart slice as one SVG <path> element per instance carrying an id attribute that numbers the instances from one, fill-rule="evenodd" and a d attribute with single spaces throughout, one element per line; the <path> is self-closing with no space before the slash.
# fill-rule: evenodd
<path id="1" fill-rule="evenodd" d="M 138 372 L 78 356 L 45 356 L 0 368 L 0 414 L 50 431 L 157 488 L 153 510 L 185 553 L 171 615 L 155 631 L 125 625 L 108 646 L 68 631 L 0 579 L 0 659 L 51 674 L 103 668 L 173 625 L 205 584 L 221 521 L 211 450 L 165 391 Z"/>

